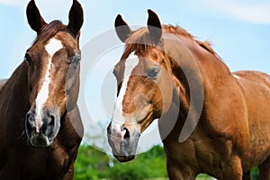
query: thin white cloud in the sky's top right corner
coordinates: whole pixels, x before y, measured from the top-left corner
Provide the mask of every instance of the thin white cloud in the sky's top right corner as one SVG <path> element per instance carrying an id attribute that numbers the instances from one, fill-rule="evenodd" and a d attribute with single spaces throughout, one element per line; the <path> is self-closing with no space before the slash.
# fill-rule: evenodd
<path id="1" fill-rule="evenodd" d="M 239 3 L 229 0 L 205 0 L 205 2 L 223 14 L 251 23 L 270 23 L 270 3 Z"/>

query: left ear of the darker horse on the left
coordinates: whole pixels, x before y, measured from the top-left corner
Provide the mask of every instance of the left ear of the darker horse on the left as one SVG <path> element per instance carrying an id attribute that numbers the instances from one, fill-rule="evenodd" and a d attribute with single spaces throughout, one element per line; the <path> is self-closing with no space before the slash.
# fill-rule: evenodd
<path id="1" fill-rule="evenodd" d="M 36 31 L 38 34 L 40 33 L 44 25 L 47 25 L 47 23 L 45 23 L 45 21 L 41 17 L 40 11 L 34 0 L 31 0 L 27 5 L 26 16 L 31 29 L 33 31 Z"/>

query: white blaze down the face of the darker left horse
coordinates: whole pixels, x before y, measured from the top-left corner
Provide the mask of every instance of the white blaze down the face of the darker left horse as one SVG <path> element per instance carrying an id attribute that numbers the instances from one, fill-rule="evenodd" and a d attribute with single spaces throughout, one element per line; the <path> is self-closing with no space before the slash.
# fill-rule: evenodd
<path id="1" fill-rule="evenodd" d="M 49 43 L 45 46 L 46 51 L 49 54 L 49 62 L 48 67 L 46 70 L 46 74 L 43 78 L 43 85 L 40 88 L 40 92 L 37 95 L 36 98 L 36 120 L 35 120 L 35 127 L 36 131 L 40 132 L 40 127 L 42 125 L 42 116 L 43 116 L 43 106 L 44 103 L 47 102 L 47 99 L 49 98 L 49 83 L 50 83 L 50 77 L 49 77 L 49 69 L 51 67 L 51 58 L 53 55 L 59 50 L 62 49 L 63 45 L 60 40 L 51 39 L 49 40 Z"/>

